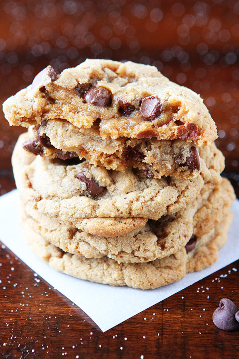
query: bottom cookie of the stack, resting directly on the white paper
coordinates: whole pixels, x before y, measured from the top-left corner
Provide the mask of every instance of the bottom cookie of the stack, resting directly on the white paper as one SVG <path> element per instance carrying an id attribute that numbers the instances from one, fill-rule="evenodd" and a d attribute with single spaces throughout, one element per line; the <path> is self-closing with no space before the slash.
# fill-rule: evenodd
<path id="1" fill-rule="evenodd" d="M 117 263 L 114 259 L 85 258 L 63 252 L 50 244 L 26 224 L 23 232 L 35 254 L 52 268 L 74 277 L 113 286 L 154 289 L 183 278 L 186 272 L 201 270 L 217 260 L 218 249 L 225 243 L 231 216 L 203 239 L 197 238 L 197 248 L 182 248 L 175 254 L 147 263 Z M 202 239 L 202 241 L 201 241 Z"/>

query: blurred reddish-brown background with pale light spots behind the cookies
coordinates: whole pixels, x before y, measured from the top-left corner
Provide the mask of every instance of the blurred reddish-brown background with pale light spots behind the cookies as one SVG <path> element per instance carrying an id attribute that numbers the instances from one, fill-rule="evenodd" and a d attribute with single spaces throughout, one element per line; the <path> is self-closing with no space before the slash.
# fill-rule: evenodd
<path id="1" fill-rule="evenodd" d="M 239 1 L 3 0 L 0 15 L 1 103 L 48 64 L 61 71 L 90 57 L 155 65 L 203 97 L 237 184 Z M 0 194 L 14 187 L 10 155 L 22 131 L 0 113 Z"/>

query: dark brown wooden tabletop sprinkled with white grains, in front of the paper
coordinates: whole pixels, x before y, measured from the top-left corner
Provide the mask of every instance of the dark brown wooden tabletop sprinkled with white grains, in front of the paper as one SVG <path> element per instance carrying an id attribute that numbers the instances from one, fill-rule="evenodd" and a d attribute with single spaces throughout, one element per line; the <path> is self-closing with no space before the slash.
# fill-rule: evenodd
<path id="1" fill-rule="evenodd" d="M 4 358 L 237 358 L 238 333 L 212 314 L 223 297 L 239 304 L 239 261 L 106 333 L 4 246 L 0 263 Z"/>

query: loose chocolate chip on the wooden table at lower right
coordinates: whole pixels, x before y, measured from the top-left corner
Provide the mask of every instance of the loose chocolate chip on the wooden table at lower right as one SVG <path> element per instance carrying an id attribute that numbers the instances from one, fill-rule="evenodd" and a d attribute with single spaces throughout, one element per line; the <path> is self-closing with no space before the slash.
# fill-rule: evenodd
<path id="1" fill-rule="evenodd" d="M 213 313 L 213 323 L 228 332 L 239 330 L 239 322 L 235 318 L 237 312 L 238 307 L 230 299 L 223 298 Z"/>

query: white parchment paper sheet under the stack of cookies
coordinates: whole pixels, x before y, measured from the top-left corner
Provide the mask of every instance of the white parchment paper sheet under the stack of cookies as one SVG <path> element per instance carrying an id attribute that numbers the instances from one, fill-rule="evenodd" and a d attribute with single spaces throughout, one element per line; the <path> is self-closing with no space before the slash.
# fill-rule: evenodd
<path id="1" fill-rule="evenodd" d="M 87 313 L 105 332 L 144 309 L 239 259 L 239 200 L 233 204 L 234 221 L 218 261 L 201 272 L 187 274 L 177 283 L 154 290 L 111 287 L 58 273 L 38 259 L 25 244 L 18 220 L 16 190 L 0 196 L 0 240 L 33 271 Z"/>

